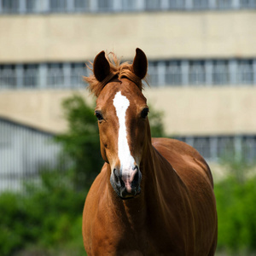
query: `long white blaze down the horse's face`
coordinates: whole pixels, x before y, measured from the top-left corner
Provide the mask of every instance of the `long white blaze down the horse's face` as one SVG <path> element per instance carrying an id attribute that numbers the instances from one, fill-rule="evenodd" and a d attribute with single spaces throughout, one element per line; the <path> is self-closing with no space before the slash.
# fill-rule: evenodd
<path id="1" fill-rule="evenodd" d="M 118 155 L 120 160 L 120 169 L 126 174 L 130 174 L 129 171 L 135 164 L 134 158 L 131 156 L 130 148 L 127 141 L 127 132 L 125 125 L 125 113 L 129 107 L 129 100 L 121 95 L 121 92 L 117 92 L 113 98 L 113 106 L 116 111 L 116 115 L 119 119 L 119 140 L 118 140 Z M 130 175 L 129 175 L 130 176 Z"/>

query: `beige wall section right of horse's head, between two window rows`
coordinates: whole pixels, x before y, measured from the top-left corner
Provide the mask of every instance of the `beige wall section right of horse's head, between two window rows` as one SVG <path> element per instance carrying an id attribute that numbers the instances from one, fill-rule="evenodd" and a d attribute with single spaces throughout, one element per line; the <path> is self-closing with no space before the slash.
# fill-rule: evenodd
<path id="1" fill-rule="evenodd" d="M 165 113 L 170 135 L 254 134 L 256 87 L 151 89 L 148 103 Z"/>

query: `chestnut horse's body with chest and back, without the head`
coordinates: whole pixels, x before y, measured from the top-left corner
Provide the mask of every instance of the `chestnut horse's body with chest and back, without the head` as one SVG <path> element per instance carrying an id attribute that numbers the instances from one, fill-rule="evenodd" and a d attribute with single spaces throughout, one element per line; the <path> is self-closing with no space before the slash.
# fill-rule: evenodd
<path id="1" fill-rule="evenodd" d="M 153 155 L 148 155 L 152 163 L 143 163 L 148 173 L 142 188 L 145 198 L 120 201 L 109 185 L 109 165 L 103 166 L 84 207 L 84 230 L 90 226 L 84 233 L 89 255 L 214 254 L 217 217 L 212 213 L 214 195 L 206 163 L 193 148 L 175 140 L 153 139 L 153 146 L 149 150 Z M 168 153 L 163 151 L 166 146 L 171 146 Z M 177 146 L 188 147 L 192 154 L 173 151 Z M 174 159 L 175 170 L 160 153 Z"/>

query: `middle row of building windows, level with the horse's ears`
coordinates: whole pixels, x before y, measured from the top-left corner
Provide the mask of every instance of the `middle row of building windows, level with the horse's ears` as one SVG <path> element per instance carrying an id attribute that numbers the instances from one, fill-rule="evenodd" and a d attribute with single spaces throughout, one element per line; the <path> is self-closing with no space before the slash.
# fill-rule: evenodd
<path id="1" fill-rule="evenodd" d="M 148 61 L 151 86 L 256 84 L 256 59 Z M 83 88 L 82 62 L 0 65 L 0 89 Z"/>

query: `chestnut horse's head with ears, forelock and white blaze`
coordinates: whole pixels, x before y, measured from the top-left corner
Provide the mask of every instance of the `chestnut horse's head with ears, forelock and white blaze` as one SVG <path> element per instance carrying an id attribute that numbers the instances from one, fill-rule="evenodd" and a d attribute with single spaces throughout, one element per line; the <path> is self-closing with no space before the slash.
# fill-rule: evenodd
<path id="1" fill-rule="evenodd" d="M 127 199 L 141 192 L 140 166 L 150 138 L 149 110 L 142 93 L 148 61 L 141 49 L 136 49 L 132 64 L 120 65 L 115 55 L 112 58 L 104 51 L 96 55 L 93 73 L 84 79 L 97 97 L 95 114 L 110 183 L 119 197 Z"/>

